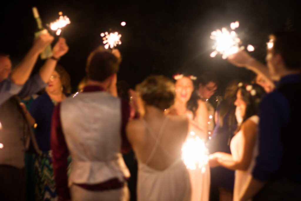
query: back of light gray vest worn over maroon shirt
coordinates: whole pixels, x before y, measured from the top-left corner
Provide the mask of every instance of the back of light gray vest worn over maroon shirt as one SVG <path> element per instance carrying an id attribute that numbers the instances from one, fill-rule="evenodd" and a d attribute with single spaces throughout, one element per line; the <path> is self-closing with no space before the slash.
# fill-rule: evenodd
<path id="1" fill-rule="evenodd" d="M 62 102 L 62 128 L 73 159 L 70 184 L 129 177 L 120 153 L 120 108 L 120 99 L 101 91 L 79 93 Z"/>

